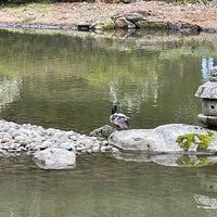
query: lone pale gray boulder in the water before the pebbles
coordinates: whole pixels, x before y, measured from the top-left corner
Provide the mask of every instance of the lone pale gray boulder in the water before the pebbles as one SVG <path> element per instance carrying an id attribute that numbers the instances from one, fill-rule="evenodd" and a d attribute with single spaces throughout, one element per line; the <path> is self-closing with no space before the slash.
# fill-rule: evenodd
<path id="1" fill-rule="evenodd" d="M 64 149 L 48 148 L 36 152 L 34 161 L 43 169 L 69 169 L 76 165 L 76 155 Z"/>

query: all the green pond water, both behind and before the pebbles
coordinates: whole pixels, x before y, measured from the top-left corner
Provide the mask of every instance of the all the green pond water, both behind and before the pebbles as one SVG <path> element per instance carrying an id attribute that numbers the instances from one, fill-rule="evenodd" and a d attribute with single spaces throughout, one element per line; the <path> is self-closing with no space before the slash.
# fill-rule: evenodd
<path id="1" fill-rule="evenodd" d="M 115 102 L 132 128 L 199 124 L 194 93 L 217 64 L 216 39 L 144 38 L 0 30 L 0 118 L 88 133 L 110 124 Z M 0 216 L 217 214 L 217 165 L 165 167 L 100 154 L 79 155 L 74 170 L 44 171 L 28 156 L 0 161 Z"/>

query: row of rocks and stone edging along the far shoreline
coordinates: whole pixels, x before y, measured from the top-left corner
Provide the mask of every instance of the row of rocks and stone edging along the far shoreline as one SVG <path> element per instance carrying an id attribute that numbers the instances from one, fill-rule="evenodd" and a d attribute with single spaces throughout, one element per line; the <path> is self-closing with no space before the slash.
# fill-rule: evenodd
<path id="1" fill-rule="evenodd" d="M 133 22 L 137 18 L 137 22 Z M 60 24 L 22 24 L 22 23 L 0 23 L 1 28 L 31 28 L 31 29 L 62 29 L 62 30 L 80 30 L 80 31 L 98 31 L 110 29 L 154 29 L 166 30 L 171 33 L 189 33 L 199 34 L 201 31 L 207 34 L 217 34 L 217 28 L 206 27 L 202 28 L 200 25 L 177 22 L 171 23 L 168 21 L 153 21 L 140 17 L 138 13 L 123 14 L 117 17 L 112 17 L 103 21 L 97 21 L 91 24 L 79 23 L 78 25 L 60 25 Z"/>

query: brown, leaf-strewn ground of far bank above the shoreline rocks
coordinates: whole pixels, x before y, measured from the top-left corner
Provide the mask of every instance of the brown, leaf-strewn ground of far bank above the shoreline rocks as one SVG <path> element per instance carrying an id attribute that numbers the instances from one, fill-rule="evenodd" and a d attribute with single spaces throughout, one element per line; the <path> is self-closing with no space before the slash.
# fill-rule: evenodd
<path id="1" fill-rule="evenodd" d="M 26 4 L 0 8 L 0 23 L 62 24 L 92 23 L 116 14 L 148 11 L 154 18 L 169 22 L 189 22 L 201 27 L 217 28 L 217 7 L 204 4 L 167 4 L 165 2 L 125 3 L 54 3 Z"/>

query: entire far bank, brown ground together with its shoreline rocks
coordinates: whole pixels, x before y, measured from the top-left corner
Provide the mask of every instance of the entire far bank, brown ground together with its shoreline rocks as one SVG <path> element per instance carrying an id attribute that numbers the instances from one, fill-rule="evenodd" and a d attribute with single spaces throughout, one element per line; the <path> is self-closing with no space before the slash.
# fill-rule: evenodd
<path id="1" fill-rule="evenodd" d="M 38 10 L 39 8 L 43 10 Z M 3 7 L 0 27 L 33 29 L 161 29 L 180 33 L 217 34 L 215 1 L 203 3 L 125 3 L 75 2 Z M 14 15 L 18 14 L 18 15 Z"/>

